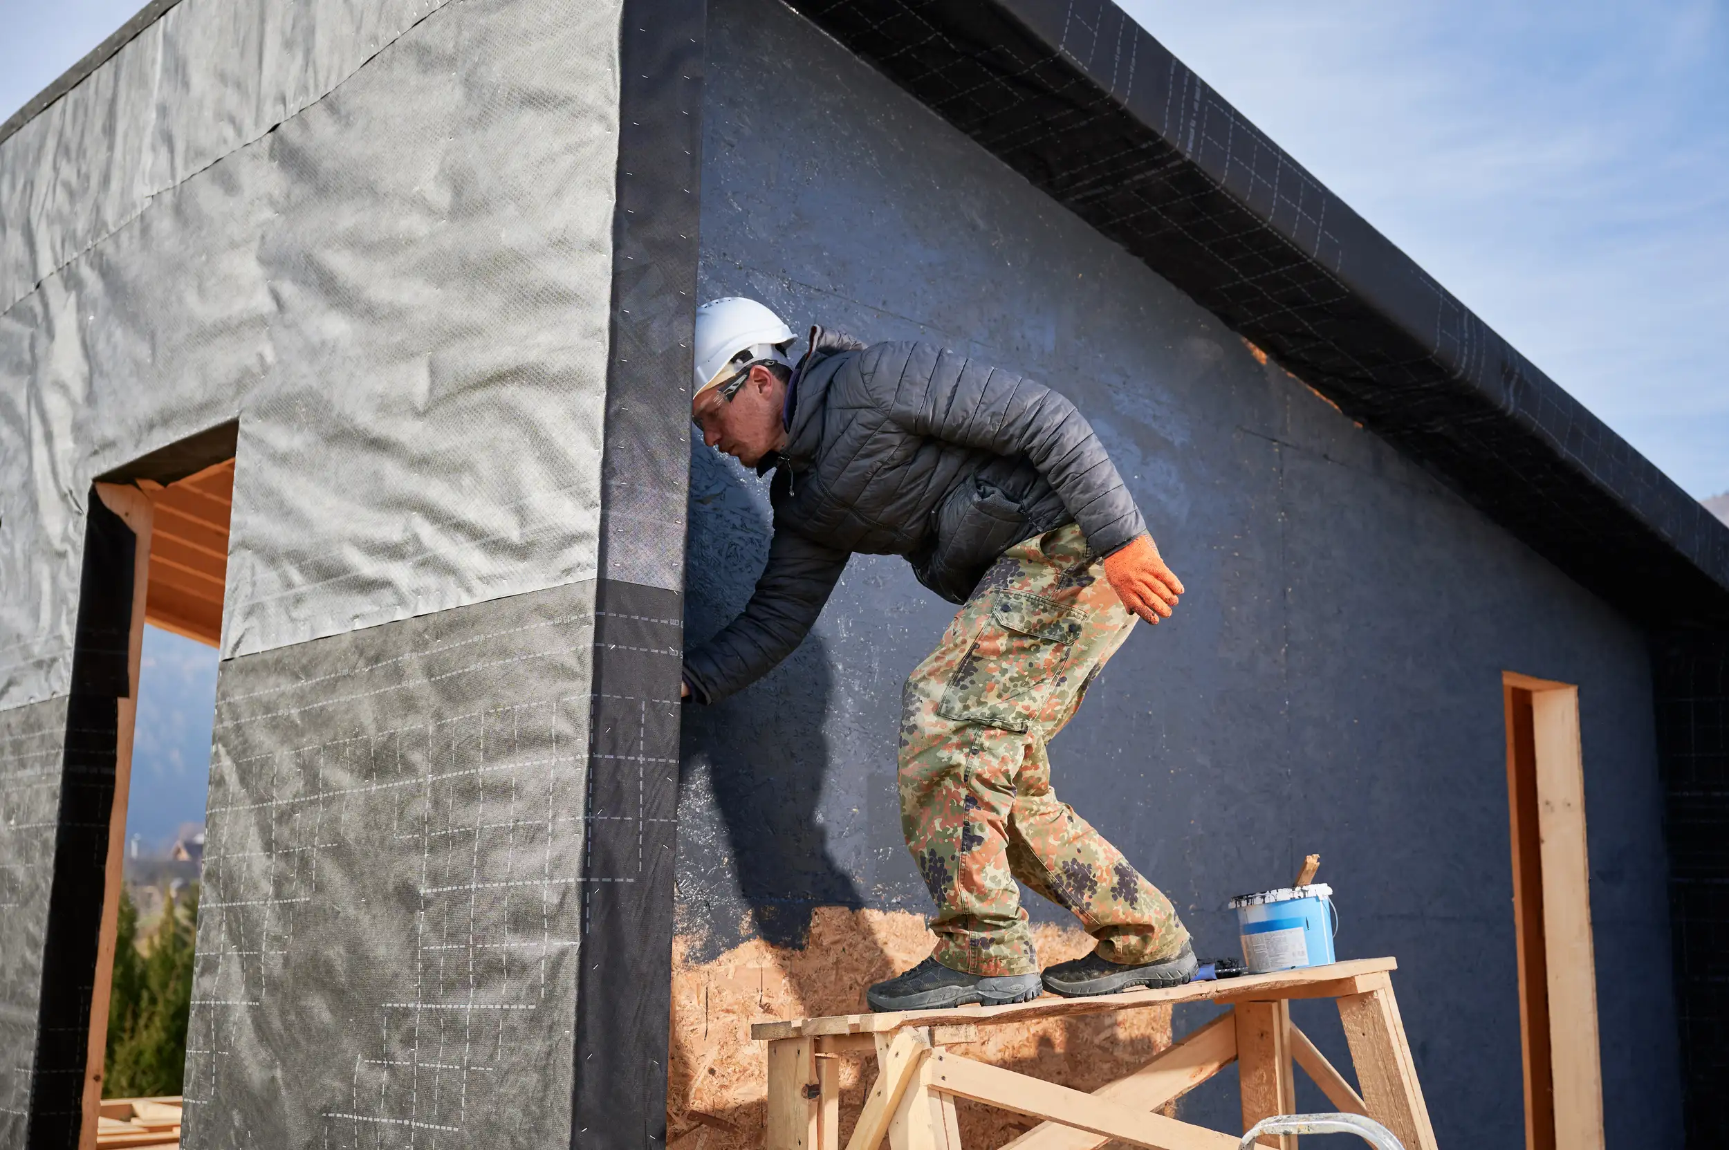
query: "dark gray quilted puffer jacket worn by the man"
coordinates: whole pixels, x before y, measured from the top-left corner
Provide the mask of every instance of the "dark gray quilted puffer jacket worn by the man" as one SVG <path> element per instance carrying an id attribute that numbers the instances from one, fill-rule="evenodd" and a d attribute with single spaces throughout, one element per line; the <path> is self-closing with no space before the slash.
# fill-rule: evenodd
<path id="1" fill-rule="evenodd" d="M 816 334 L 794 374 L 769 503 L 775 538 L 742 616 L 685 655 L 700 702 L 750 685 L 809 633 L 852 552 L 906 555 L 967 602 L 1003 552 L 1069 522 L 1108 555 L 1146 531 L 1069 399 L 920 342 Z"/>

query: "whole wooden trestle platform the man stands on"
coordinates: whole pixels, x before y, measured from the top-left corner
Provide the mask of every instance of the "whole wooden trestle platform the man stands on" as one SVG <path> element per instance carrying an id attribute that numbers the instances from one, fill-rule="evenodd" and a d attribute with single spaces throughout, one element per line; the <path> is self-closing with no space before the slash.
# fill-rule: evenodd
<path id="1" fill-rule="evenodd" d="M 1435 1150 L 1394 1000 L 1395 968 L 1392 958 L 1366 958 L 1100 998 L 759 1022 L 750 1038 L 768 1041 L 768 1150 L 842 1150 L 835 1060 L 871 1055 L 877 1083 L 845 1150 L 877 1150 L 884 1138 L 894 1150 L 961 1150 L 956 1098 L 1039 1119 L 1010 1143 L 1013 1150 L 1093 1150 L 1110 1140 L 1150 1150 L 1236 1150 L 1236 1134 L 1153 1114 L 1231 1062 L 1241 1083 L 1243 1129 L 1295 1112 L 1295 1064 L 1338 1110 L 1375 1119 L 1406 1150 Z M 1292 1025 L 1293 998 L 1338 1003 L 1361 1096 Z M 947 1050 L 977 1041 L 986 1025 L 1195 1001 L 1228 1003 L 1231 1010 L 1091 1095 Z M 1295 1138 L 1266 1136 L 1260 1145 L 1290 1150 Z"/>

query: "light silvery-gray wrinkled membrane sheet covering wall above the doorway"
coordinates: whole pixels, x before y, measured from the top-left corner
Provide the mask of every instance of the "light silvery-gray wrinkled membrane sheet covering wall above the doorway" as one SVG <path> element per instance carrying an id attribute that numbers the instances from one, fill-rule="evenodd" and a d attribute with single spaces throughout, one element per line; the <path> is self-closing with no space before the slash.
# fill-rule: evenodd
<path id="1" fill-rule="evenodd" d="M 617 19 L 185 0 L 0 142 L 0 707 L 88 481 L 237 415 L 225 655 L 595 576 Z"/>

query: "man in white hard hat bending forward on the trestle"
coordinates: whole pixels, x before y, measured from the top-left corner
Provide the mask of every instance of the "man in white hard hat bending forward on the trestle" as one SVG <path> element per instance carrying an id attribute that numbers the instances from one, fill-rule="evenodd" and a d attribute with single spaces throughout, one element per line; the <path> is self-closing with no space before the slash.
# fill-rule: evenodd
<path id="1" fill-rule="evenodd" d="M 697 310 L 692 418 L 775 470 L 775 536 L 743 614 L 685 655 L 683 693 L 714 702 L 792 654 L 854 552 L 904 555 L 961 604 L 901 695 L 901 828 L 937 946 L 871 1008 L 1036 998 L 1017 878 L 1098 939 L 1046 989 L 1188 982 L 1171 901 L 1051 794 L 1044 757 L 1136 617 L 1171 617 L 1183 591 L 1098 436 L 1055 391 L 932 344 L 811 329 L 797 365 L 792 344 L 752 299 Z"/>

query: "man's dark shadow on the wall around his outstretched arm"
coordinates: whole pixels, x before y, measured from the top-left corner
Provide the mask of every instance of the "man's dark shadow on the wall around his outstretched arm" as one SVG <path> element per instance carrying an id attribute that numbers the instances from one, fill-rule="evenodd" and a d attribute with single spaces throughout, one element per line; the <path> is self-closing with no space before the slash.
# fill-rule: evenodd
<path id="1" fill-rule="evenodd" d="M 693 439 L 685 543 L 686 645 L 707 640 L 743 609 L 768 557 L 769 531 L 768 484 Z M 762 941 L 802 948 L 818 906 L 864 906 L 858 884 L 830 854 L 818 821 L 832 766 L 823 721 L 833 688 L 825 643 L 811 636 L 754 687 L 714 706 L 685 707 L 681 790 L 688 792 L 693 773 L 707 766 L 723 834 L 712 834 L 707 813 L 688 811 L 679 880 L 681 887 L 688 880 L 702 889 L 712 908 L 707 927 L 719 939 L 731 934 L 728 911 L 742 911 L 737 917 L 749 915 Z M 728 872 L 737 875 L 742 908 L 728 906 Z M 885 963 L 884 956 L 878 965 Z M 835 987 L 797 989 L 813 1005 L 835 993 Z"/>

